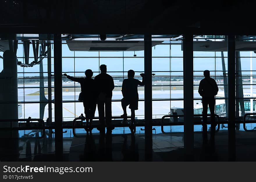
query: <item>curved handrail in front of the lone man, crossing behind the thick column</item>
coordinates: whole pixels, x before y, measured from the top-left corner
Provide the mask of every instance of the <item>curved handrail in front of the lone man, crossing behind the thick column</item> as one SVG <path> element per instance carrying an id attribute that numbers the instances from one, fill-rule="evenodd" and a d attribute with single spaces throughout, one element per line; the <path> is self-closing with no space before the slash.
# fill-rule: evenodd
<path id="1" fill-rule="evenodd" d="M 197 116 L 202 116 L 202 114 L 195 114 L 193 115 L 194 117 L 197 117 Z M 210 114 L 207 114 L 207 116 L 210 116 Z M 220 117 L 216 114 L 214 114 L 215 117 L 217 117 L 217 125 L 218 125 L 218 128 L 216 130 L 216 132 L 218 132 L 220 130 Z M 163 119 L 166 118 L 166 117 L 184 117 L 184 115 L 164 115 L 162 118 L 161 118 L 161 131 L 162 133 L 164 134 L 170 134 L 171 132 L 165 132 L 163 130 Z M 202 122 L 198 122 L 198 123 L 195 123 L 194 122 L 194 125 L 200 125 L 202 124 Z M 211 124 L 211 122 L 207 122 L 207 124 Z M 184 125 L 184 122 L 176 122 L 176 123 L 170 123 L 168 124 L 168 126 L 181 126 L 181 125 Z"/>

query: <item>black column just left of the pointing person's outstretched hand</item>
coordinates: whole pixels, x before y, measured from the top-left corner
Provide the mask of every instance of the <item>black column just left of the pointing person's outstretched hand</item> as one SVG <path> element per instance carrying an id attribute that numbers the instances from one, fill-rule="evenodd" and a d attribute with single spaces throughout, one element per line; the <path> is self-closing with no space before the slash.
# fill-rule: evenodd
<path id="1" fill-rule="evenodd" d="M 62 45 L 61 34 L 54 34 L 54 121 L 56 160 L 63 158 L 62 133 Z"/>

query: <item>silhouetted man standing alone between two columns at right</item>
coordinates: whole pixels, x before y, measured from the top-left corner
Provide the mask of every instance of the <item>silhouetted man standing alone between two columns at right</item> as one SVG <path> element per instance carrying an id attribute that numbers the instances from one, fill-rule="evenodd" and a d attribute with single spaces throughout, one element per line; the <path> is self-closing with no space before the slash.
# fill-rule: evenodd
<path id="1" fill-rule="evenodd" d="M 202 96 L 203 105 L 203 125 L 207 122 L 207 110 L 208 105 L 211 113 L 211 123 L 215 123 L 214 107 L 215 107 L 215 95 L 218 93 L 218 85 L 216 81 L 210 77 L 210 71 L 204 71 L 205 78 L 200 81 L 198 93 Z"/>

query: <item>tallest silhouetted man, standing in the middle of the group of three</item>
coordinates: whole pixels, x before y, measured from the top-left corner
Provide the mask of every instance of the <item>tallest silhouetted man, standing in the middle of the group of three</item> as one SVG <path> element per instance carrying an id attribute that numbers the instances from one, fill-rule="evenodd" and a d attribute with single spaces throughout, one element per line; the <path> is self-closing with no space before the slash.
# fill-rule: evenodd
<path id="1" fill-rule="evenodd" d="M 95 76 L 95 84 L 97 88 L 97 104 L 99 112 L 99 127 L 97 128 L 99 132 L 105 132 L 105 119 L 107 125 L 107 132 L 111 132 L 114 127 L 111 125 L 112 121 L 112 90 L 114 90 L 114 80 L 112 76 L 107 74 L 107 66 L 100 65 L 99 67 L 101 73 Z"/>

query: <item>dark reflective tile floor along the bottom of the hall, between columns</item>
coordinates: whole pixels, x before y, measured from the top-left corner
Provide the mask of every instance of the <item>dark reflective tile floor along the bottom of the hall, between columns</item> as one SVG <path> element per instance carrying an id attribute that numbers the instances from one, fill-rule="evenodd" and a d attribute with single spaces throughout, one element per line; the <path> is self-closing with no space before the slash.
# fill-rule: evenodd
<path id="1" fill-rule="evenodd" d="M 210 132 L 194 133 L 192 161 L 228 161 L 228 133 L 221 130 L 211 140 Z M 204 138 L 205 138 L 204 137 Z M 13 146 L 18 147 L 13 147 Z M 8 147 L 9 146 L 9 147 Z M 183 133 L 153 134 L 152 161 L 186 161 Z M 1 161 L 56 161 L 54 138 L 5 139 L 1 142 Z M 256 161 L 255 132 L 236 131 L 236 160 Z M 145 161 L 145 134 L 78 133 L 63 138 L 63 161 Z"/>

